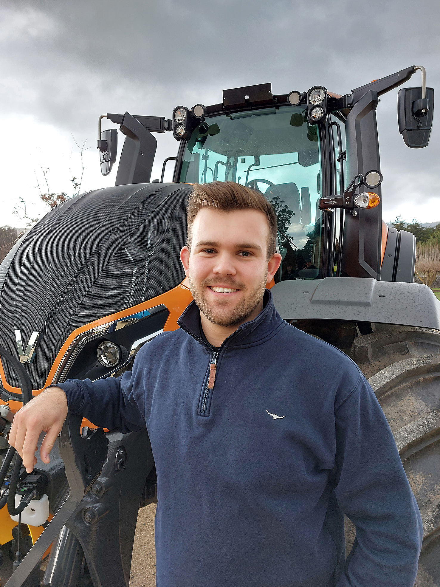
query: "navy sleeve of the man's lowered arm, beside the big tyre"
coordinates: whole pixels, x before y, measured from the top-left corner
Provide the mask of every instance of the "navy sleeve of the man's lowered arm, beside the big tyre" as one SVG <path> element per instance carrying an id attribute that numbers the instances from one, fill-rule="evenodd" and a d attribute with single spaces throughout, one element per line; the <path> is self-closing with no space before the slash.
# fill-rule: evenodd
<path id="1" fill-rule="evenodd" d="M 356 525 L 337 587 L 413 587 L 422 520 L 387 419 L 361 377 L 336 408 L 336 489 Z"/>

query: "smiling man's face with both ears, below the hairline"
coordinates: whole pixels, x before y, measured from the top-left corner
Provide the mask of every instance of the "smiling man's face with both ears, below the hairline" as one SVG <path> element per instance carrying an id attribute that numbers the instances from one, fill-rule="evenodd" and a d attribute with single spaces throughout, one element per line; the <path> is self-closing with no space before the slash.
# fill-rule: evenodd
<path id="1" fill-rule="evenodd" d="M 200 311 L 220 326 L 245 321 L 262 302 L 281 257 L 267 259 L 268 221 L 258 210 L 202 208 L 192 225 L 191 252 L 181 261 Z"/>

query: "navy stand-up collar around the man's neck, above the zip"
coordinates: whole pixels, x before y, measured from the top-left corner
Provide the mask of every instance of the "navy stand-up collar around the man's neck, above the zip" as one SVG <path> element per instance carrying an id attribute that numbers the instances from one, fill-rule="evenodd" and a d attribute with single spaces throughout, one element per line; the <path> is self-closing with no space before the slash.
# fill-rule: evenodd
<path id="1" fill-rule="evenodd" d="M 220 346 L 219 352 L 223 348 L 256 345 L 285 325 L 285 321 L 283 321 L 273 305 L 270 289 L 266 289 L 264 301 L 265 306 L 259 315 L 250 322 L 243 323 L 228 336 Z M 177 323 L 182 330 L 207 347 L 211 353 L 216 352 L 215 347 L 207 342 L 201 332 L 200 311 L 194 300 L 184 310 Z"/>

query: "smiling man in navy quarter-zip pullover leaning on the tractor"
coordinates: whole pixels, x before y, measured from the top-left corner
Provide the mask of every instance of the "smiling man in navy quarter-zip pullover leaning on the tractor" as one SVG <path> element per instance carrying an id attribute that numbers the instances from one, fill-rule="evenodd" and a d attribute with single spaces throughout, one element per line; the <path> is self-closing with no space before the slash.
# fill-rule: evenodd
<path id="1" fill-rule="evenodd" d="M 409 587 L 422 526 L 384 414 L 342 352 L 287 324 L 266 285 L 276 217 L 258 192 L 195 185 L 181 261 L 194 296 L 180 329 L 120 379 L 68 380 L 15 416 L 28 471 L 67 410 L 147 427 L 158 587 Z M 356 524 L 344 560 L 343 512 Z"/>

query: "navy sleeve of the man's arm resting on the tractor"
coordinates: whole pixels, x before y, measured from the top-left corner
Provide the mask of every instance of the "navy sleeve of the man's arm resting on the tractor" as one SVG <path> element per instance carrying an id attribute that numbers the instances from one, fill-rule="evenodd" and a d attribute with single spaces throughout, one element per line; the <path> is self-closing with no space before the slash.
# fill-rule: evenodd
<path id="1" fill-rule="evenodd" d="M 143 403 L 134 399 L 144 397 L 144 373 L 138 353 L 133 371 L 126 371 L 122 377 L 107 377 L 94 382 L 90 379 L 67 379 L 57 385 L 67 397 L 67 407 L 73 414 L 90 420 L 96 426 L 109 430 L 127 432 L 145 428 Z"/>

